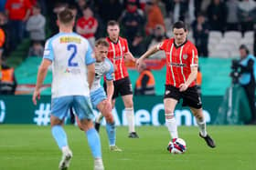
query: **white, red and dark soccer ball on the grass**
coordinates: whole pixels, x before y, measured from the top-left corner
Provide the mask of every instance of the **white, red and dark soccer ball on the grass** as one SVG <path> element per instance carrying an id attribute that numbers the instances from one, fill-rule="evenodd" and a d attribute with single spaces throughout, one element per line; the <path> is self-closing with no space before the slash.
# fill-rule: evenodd
<path id="1" fill-rule="evenodd" d="M 184 154 L 186 149 L 186 142 L 182 138 L 173 139 L 173 141 L 170 141 L 167 146 L 167 150 L 171 154 Z"/>

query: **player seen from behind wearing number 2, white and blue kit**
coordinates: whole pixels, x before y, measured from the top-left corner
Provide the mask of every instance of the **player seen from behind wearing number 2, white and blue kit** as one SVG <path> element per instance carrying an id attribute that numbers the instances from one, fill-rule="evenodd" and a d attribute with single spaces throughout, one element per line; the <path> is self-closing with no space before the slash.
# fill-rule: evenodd
<path id="1" fill-rule="evenodd" d="M 50 125 L 51 133 L 62 151 L 59 169 L 68 169 L 72 152 L 67 135 L 62 127 L 65 117 L 72 106 L 80 120 L 80 127 L 87 136 L 94 157 L 94 169 L 104 169 L 101 159 L 100 136 L 93 127 L 90 102 L 90 88 L 95 75 L 95 59 L 91 56 L 89 42 L 72 33 L 74 15 L 65 9 L 58 15 L 59 34 L 49 38 L 44 51 L 43 61 L 38 69 L 37 85 L 33 102 L 37 105 L 40 87 L 52 65 L 52 101 Z"/>

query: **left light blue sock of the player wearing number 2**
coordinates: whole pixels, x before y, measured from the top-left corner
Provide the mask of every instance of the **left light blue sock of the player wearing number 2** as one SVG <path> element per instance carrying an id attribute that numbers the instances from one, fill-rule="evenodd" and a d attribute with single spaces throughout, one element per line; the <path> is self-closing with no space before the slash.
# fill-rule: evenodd
<path id="1" fill-rule="evenodd" d="M 68 146 L 67 135 L 61 125 L 54 125 L 51 127 L 51 134 L 53 135 L 59 149 L 62 150 L 64 146 Z"/>

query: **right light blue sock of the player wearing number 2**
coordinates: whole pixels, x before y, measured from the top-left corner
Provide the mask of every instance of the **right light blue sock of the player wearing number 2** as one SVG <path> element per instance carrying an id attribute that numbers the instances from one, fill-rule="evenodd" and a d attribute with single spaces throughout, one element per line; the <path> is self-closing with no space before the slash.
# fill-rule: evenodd
<path id="1" fill-rule="evenodd" d="M 85 134 L 87 135 L 87 140 L 93 157 L 101 158 L 101 140 L 97 131 L 94 128 L 91 128 Z"/>

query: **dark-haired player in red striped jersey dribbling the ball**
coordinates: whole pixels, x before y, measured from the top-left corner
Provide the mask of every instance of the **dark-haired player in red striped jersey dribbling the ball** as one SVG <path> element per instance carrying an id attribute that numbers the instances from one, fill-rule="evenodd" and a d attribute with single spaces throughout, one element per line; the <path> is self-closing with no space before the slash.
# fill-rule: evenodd
<path id="1" fill-rule="evenodd" d="M 188 105 L 196 116 L 199 136 L 205 139 L 209 147 L 215 147 L 214 141 L 207 133 L 202 103 L 197 93 L 195 82 L 198 67 L 197 48 L 187 40 L 187 28 L 182 21 L 174 24 L 173 33 L 174 38 L 165 39 L 164 42 L 150 48 L 136 61 L 136 65 L 142 65 L 144 58 L 159 50 L 165 51 L 165 124 L 173 141 L 178 137 L 174 111 L 177 102 L 183 98 L 183 106 Z"/>

